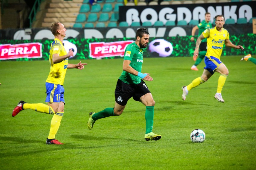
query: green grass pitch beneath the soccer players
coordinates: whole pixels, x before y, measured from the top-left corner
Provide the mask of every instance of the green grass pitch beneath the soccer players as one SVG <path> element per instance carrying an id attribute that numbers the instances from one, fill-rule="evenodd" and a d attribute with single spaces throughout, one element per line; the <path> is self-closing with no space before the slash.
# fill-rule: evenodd
<path id="1" fill-rule="evenodd" d="M 98 120 L 87 128 L 89 112 L 114 107 L 114 90 L 122 59 L 85 60 L 84 70 L 66 73 L 65 112 L 56 139 L 46 145 L 50 115 L 24 110 L 11 116 L 19 100 L 44 103 L 49 61 L 0 62 L 1 169 L 255 169 L 256 65 L 222 57 L 229 75 L 215 98 L 219 73 L 192 89 L 186 101 L 181 87 L 201 76 L 190 67 L 192 57 L 144 58 L 142 72 L 156 101 L 153 132 L 158 141 L 145 141 L 145 106 L 130 99 L 121 116 Z M 78 63 L 79 60 L 69 60 Z M 203 143 L 190 132 L 202 129 Z"/>

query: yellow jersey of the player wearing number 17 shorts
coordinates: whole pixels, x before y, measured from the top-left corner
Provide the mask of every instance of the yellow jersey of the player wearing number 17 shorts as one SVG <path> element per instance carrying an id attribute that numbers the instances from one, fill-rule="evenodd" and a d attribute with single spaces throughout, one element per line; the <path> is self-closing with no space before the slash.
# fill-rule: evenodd
<path id="1" fill-rule="evenodd" d="M 53 54 L 59 54 L 59 56 L 67 54 L 62 42 L 60 42 L 60 40 L 57 38 L 54 39 L 50 47 L 50 73 L 46 79 L 46 82 L 63 85 L 68 67 L 68 59 L 63 60 L 60 63 L 53 64 Z"/>

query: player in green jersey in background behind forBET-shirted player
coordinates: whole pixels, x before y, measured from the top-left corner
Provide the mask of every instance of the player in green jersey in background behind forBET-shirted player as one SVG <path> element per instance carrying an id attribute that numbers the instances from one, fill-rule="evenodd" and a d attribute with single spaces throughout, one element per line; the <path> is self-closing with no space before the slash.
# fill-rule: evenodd
<path id="1" fill-rule="evenodd" d="M 206 30 L 207 28 L 212 28 L 212 24 L 210 22 L 211 19 L 211 14 L 209 12 L 205 13 L 205 20 L 203 20 L 200 24 L 198 24 L 197 26 L 195 26 L 192 29 L 191 35 L 192 37 L 190 38 L 190 41 L 194 41 L 194 37 L 195 37 L 195 32 L 198 30 L 198 34 L 199 36 L 203 33 L 204 30 Z M 196 61 L 194 63 L 194 65 L 191 67 L 191 70 L 195 70 L 198 71 L 197 69 L 197 65 L 201 63 L 201 61 L 204 59 L 205 55 L 206 55 L 206 51 L 207 51 L 207 43 L 206 43 L 206 39 L 203 39 L 201 44 L 200 44 L 200 52 L 199 52 L 199 57 L 193 57 L 193 59 Z"/>

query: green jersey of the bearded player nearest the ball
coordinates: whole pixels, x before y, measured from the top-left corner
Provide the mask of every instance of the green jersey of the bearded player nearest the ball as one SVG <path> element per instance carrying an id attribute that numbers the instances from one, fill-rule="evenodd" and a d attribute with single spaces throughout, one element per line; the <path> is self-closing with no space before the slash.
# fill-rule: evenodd
<path id="1" fill-rule="evenodd" d="M 125 48 L 123 60 L 130 60 L 130 66 L 136 71 L 141 72 L 143 51 L 144 48 L 139 48 L 139 46 L 133 42 Z M 126 71 L 122 72 L 119 79 L 128 84 L 139 84 L 141 82 L 141 78 L 139 76 L 132 75 Z"/>

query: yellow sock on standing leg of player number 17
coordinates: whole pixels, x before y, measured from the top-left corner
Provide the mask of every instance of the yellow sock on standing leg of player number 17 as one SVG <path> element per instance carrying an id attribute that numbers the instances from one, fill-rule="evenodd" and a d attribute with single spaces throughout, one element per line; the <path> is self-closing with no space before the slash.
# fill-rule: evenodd
<path id="1" fill-rule="evenodd" d="M 53 115 L 48 139 L 55 139 L 55 135 L 59 129 L 60 121 L 62 119 L 63 114 L 64 112 L 57 112 L 55 115 Z"/>

